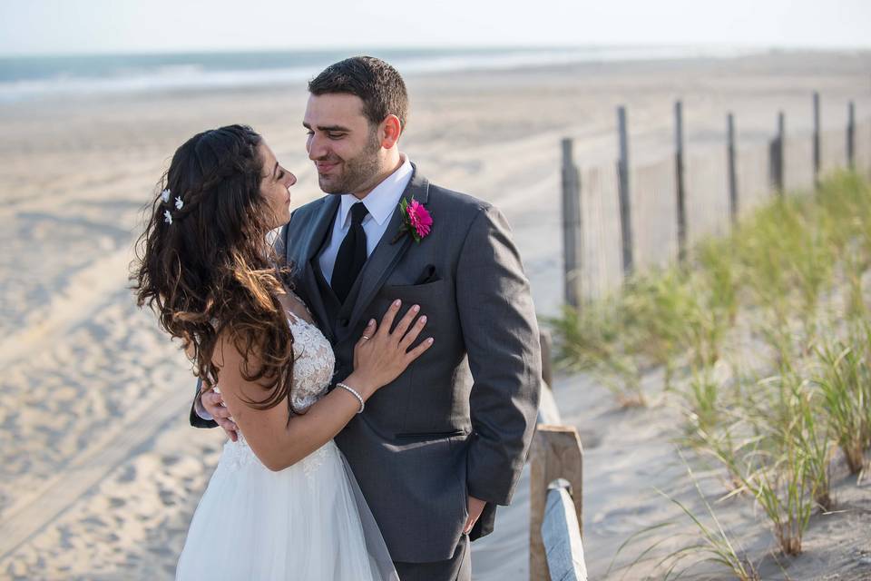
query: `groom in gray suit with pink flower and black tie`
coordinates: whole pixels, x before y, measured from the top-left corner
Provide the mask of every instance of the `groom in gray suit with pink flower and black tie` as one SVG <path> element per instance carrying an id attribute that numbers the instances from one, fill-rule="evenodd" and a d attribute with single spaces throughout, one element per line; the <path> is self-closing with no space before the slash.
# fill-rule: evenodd
<path id="1" fill-rule="evenodd" d="M 541 355 L 529 283 L 502 213 L 430 183 L 399 152 L 408 98 L 392 66 L 349 58 L 308 91 L 308 157 L 327 195 L 293 212 L 277 250 L 333 345 L 334 382 L 393 300 L 397 317 L 420 305 L 419 340 L 435 338 L 336 443 L 399 577 L 468 580 L 470 539 L 511 501 L 533 436 Z M 402 201 L 421 223 L 406 224 Z M 235 438 L 219 394 L 195 399 L 191 423 L 213 427 L 209 415 Z"/>

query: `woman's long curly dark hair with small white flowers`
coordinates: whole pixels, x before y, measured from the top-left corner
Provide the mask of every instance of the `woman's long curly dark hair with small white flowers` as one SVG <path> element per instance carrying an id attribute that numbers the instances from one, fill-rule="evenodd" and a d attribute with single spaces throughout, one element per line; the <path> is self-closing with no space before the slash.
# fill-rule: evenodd
<path id="1" fill-rule="evenodd" d="M 278 300 L 289 268 L 268 241 L 275 222 L 260 194 L 269 173 L 261 142 L 250 127 L 229 125 L 176 150 L 136 242 L 132 290 L 137 305 L 182 340 L 201 379 L 218 385 L 211 359 L 227 330 L 244 358 L 243 377 L 269 391 L 250 405 L 269 409 L 287 399 L 293 411 L 293 335 Z"/>

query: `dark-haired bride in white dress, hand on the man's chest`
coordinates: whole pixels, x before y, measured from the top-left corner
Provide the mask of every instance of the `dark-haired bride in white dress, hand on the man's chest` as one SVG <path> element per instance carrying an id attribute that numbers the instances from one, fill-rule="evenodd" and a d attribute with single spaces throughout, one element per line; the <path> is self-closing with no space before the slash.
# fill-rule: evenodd
<path id="1" fill-rule="evenodd" d="M 137 303 L 181 339 L 204 385 L 220 382 L 240 430 L 193 516 L 176 579 L 398 578 L 332 438 L 432 339 L 409 350 L 426 317 L 412 308 L 396 320 L 396 301 L 369 321 L 354 371 L 328 392 L 330 344 L 267 240 L 289 221 L 295 182 L 250 127 L 199 133 L 173 155 L 137 244 Z"/>

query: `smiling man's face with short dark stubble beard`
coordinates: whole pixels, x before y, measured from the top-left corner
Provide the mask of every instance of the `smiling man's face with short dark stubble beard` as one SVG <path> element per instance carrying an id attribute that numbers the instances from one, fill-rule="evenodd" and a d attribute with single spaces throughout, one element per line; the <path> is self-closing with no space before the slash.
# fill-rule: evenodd
<path id="1" fill-rule="evenodd" d="M 377 127 L 353 94 L 309 95 L 303 126 L 308 159 L 315 162 L 320 189 L 327 193 L 367 193 L 381 172 Z"/>

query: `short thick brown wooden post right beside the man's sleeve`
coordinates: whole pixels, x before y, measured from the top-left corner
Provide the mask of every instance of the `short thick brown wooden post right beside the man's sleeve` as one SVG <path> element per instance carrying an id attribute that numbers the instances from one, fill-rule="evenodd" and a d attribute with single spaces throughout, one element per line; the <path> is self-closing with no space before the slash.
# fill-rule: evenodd
<path id="1" fill-rule="evenodd" d="M 530 458 L 529 578 L 549 581 L 542 523 L 547 487 L 557 478 L 565 478 L 572 485 L 574 510 L 583 531 L 583 448 L 578 430 L 567 426 L 539 425 L 533 436 Z"/>

